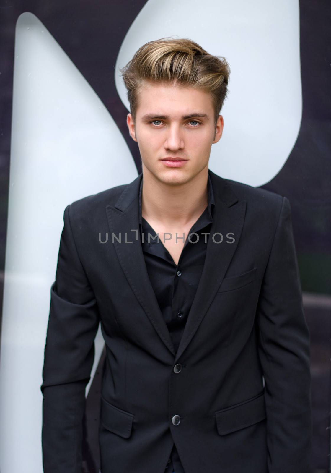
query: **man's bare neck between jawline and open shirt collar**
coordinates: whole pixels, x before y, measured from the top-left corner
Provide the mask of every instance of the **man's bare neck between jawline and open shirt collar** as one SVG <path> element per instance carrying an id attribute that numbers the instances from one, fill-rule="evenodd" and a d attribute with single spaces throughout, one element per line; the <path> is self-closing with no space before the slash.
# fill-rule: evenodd
<path id="1" fill-rule="evenodd" d="M 208 204 L 208 166 L 183 184 L 160 181 L 143 165 L 142 216 L 160 225 L 186 226 Z"/>

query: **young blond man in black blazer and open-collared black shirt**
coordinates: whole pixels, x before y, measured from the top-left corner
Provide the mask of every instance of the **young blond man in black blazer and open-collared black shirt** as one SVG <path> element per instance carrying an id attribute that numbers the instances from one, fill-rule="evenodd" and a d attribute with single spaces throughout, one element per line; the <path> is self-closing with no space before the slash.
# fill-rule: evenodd
<path id="1" fill-rule="evenodd" d="M 100 322 L 102 473 L 308 473 L 309 332 L 289 201 L 208 169 L 229 66 L 161 38 L 122 73 L 143 172 L 64 211 L 44 472 L 80 471 Z"/>

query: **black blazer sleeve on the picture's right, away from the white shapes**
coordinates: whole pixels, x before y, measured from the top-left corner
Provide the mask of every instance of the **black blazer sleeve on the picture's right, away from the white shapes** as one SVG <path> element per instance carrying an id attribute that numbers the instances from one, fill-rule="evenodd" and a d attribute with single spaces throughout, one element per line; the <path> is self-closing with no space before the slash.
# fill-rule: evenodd
<path id="1" fill-rule="evenodd" d="M 258 352 L 265 380 L 269 473 L 308 473 L 311 452 L 310 334 L 283 197 L 258 307 Z"/>

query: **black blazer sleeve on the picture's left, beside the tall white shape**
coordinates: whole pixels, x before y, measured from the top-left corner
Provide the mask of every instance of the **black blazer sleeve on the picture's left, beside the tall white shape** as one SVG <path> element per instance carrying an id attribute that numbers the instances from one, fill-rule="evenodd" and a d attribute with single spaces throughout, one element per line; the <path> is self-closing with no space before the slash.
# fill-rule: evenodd
<path id="1" fill-rule="evenodd" d="M 85 387 L 94 359 L 99 312 L 64 210 L 42 371 L 44 473 L 81 473 Z"/>

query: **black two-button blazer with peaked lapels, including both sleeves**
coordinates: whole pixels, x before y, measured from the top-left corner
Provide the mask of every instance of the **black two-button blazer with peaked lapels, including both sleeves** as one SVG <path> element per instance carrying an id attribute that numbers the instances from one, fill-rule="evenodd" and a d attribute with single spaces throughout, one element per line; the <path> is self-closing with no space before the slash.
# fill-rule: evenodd
<path id="1" fill-rule="evenodd" d="M 177 353 L 137 239 L 142 174 L 66 207 L 41 386 L 44 472 L 81 471 L 100 322 L 102 473 L 164 473 L 173 442 L 186 473 L 308 473 L 310 337 L 289 200 L 209 173 L 214 219 Z"/>

